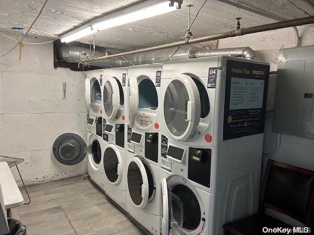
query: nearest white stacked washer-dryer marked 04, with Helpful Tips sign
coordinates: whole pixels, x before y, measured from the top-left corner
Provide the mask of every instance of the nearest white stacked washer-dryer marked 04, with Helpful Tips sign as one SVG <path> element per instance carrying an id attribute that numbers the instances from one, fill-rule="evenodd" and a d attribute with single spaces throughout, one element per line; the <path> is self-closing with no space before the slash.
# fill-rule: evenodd
<path id="1" fill-rule="evenodd" d="M 162 235 L 223 235 L 258 210 L 268 76 L 233 57 L 164 63 Z"/>

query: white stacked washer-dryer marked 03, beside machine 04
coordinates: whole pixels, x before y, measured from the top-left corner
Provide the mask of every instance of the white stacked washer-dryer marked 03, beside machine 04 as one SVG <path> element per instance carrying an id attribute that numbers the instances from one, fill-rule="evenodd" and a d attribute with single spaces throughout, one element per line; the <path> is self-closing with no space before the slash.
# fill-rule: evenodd
<path id="1" fill-rule="evenodd" d="M 161 66 L 132 66 L 127 206 L 131 216 L 159 235 Z"/>

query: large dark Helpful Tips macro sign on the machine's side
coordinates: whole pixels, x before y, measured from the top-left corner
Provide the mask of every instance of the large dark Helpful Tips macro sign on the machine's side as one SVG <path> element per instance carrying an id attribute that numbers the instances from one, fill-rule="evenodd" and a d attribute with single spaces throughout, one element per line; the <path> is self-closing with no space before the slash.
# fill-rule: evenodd
<path id="1" fill-rule="evenodd" d="M 269 65 L 228 59 L 223 140 L 263 133 Z"/>

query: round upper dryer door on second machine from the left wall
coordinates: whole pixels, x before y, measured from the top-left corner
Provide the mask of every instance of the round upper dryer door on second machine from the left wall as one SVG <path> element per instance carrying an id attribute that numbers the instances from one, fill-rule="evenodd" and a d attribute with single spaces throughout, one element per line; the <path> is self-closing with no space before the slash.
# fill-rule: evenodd
<path id="1" fill-rule="evenodd" d="M 108 119 L 115 119 L 120 107 L 119 85 L 115 78 L 110 77 L 104 84 L 103 105 L 105 116 Z"/>

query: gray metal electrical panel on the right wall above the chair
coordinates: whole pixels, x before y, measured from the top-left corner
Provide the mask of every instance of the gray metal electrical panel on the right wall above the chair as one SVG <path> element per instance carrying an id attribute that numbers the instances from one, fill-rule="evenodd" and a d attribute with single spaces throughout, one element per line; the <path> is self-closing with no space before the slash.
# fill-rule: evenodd
<path id="1" fill-rule="evenodd" d="M 314 139 L 314 46 L 279 50 L 273 132 Z"/>

